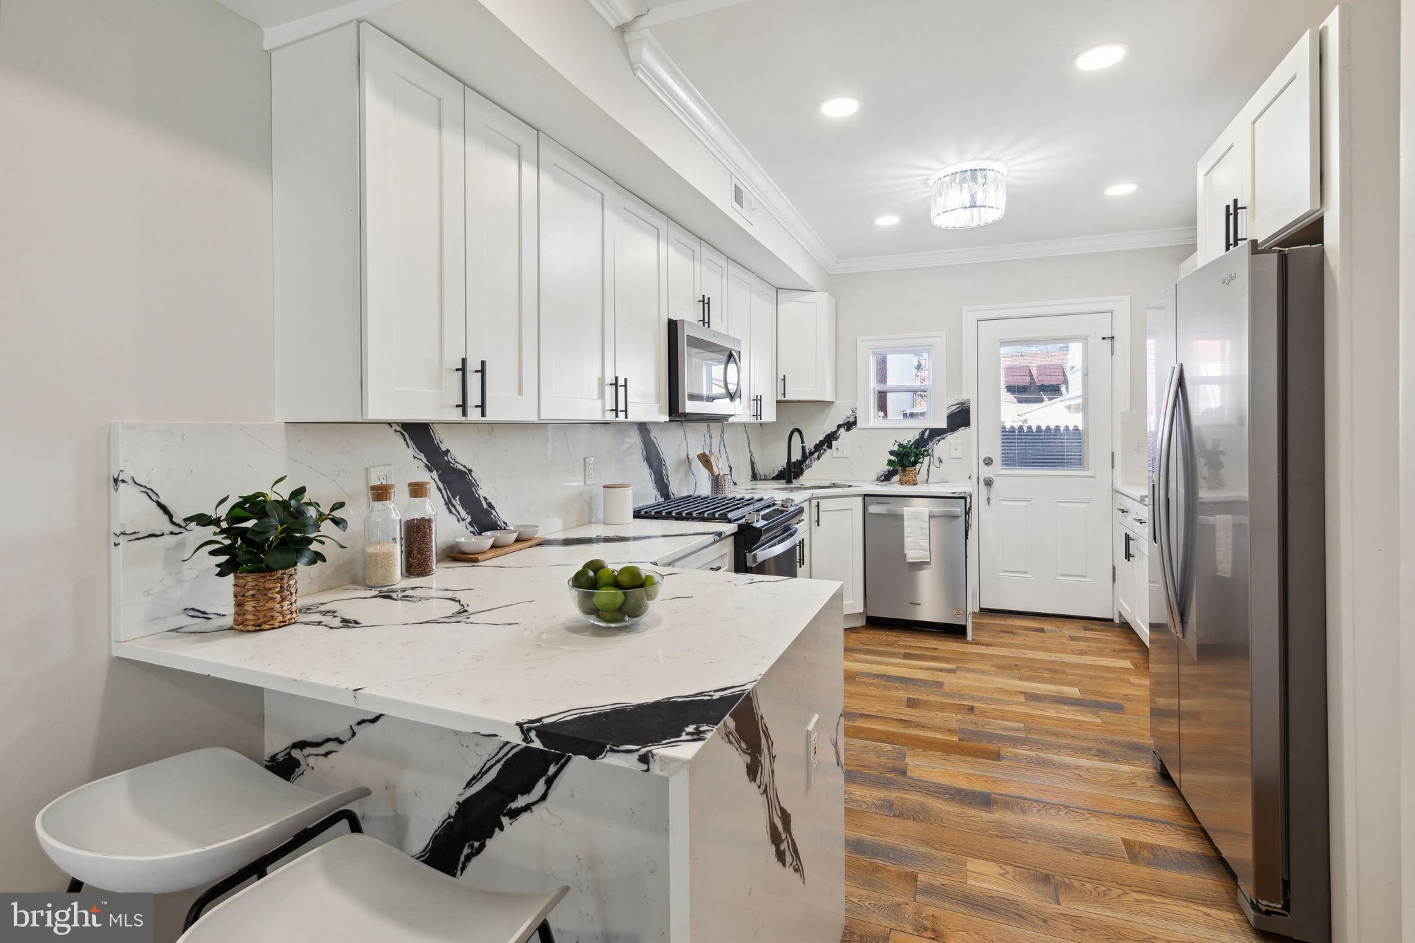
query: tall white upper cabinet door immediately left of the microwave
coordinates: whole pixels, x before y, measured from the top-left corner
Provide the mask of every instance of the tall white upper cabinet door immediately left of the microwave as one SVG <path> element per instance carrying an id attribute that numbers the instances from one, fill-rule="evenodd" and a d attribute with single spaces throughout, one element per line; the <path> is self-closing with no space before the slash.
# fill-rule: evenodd
<path id="1" fill-rule="evenodd" d="M 668 216 L 620 187 L 614 195 L 611 373 L 621 385 L 620 417 L 661 423 L 668 420 Z"/>

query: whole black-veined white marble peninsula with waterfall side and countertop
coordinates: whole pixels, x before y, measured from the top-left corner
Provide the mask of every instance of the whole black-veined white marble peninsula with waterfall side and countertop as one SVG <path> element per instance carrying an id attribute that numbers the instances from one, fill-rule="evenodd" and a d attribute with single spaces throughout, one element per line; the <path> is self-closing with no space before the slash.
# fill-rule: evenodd
<path id="1" fill-rule="evenodd" d="M 272 771 L 369 786 L 366 831 L 480 886 L 570 885 L 559 939 L 833 943 L 839 584 L 669 568 L 623 632 L 567 595 L 584 558 L 675 560 L 722 533 L 586 525 L 308 594 L 283 629 L 201 619 L 113 653 L 263 687 Z"/>

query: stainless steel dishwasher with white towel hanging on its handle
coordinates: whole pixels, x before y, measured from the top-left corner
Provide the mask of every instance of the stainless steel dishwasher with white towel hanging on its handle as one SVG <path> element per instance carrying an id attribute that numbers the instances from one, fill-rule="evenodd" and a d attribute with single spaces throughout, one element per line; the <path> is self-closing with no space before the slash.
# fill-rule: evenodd
<path id="1" fill-rule="evenodd" d="M 904 560 L 904 509 L 928 510 L 928 563 Z M 870 622 L 968 628 L 968 499 L 865 499 L 865 611 Z"/>

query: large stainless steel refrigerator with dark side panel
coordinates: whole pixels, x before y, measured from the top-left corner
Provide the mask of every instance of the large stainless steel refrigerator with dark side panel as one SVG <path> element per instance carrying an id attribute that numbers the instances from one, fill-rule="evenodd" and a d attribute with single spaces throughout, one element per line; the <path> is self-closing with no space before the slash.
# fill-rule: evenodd
<path id="1" fill-rule="evenodd" d="M 1322 249 L 1148 305 L 1150 738 L 1254 926 L 1330 940 Z"/>

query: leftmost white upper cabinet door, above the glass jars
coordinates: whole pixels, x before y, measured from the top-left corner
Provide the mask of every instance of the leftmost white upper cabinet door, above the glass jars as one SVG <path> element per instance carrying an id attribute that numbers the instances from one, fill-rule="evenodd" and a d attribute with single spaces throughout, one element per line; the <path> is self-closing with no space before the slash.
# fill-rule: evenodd
<path id="1" fill-rule="evenodd" d="M 364 416 L 460 416 L 467 353 L 463 86 L 359 28 Z"/>

